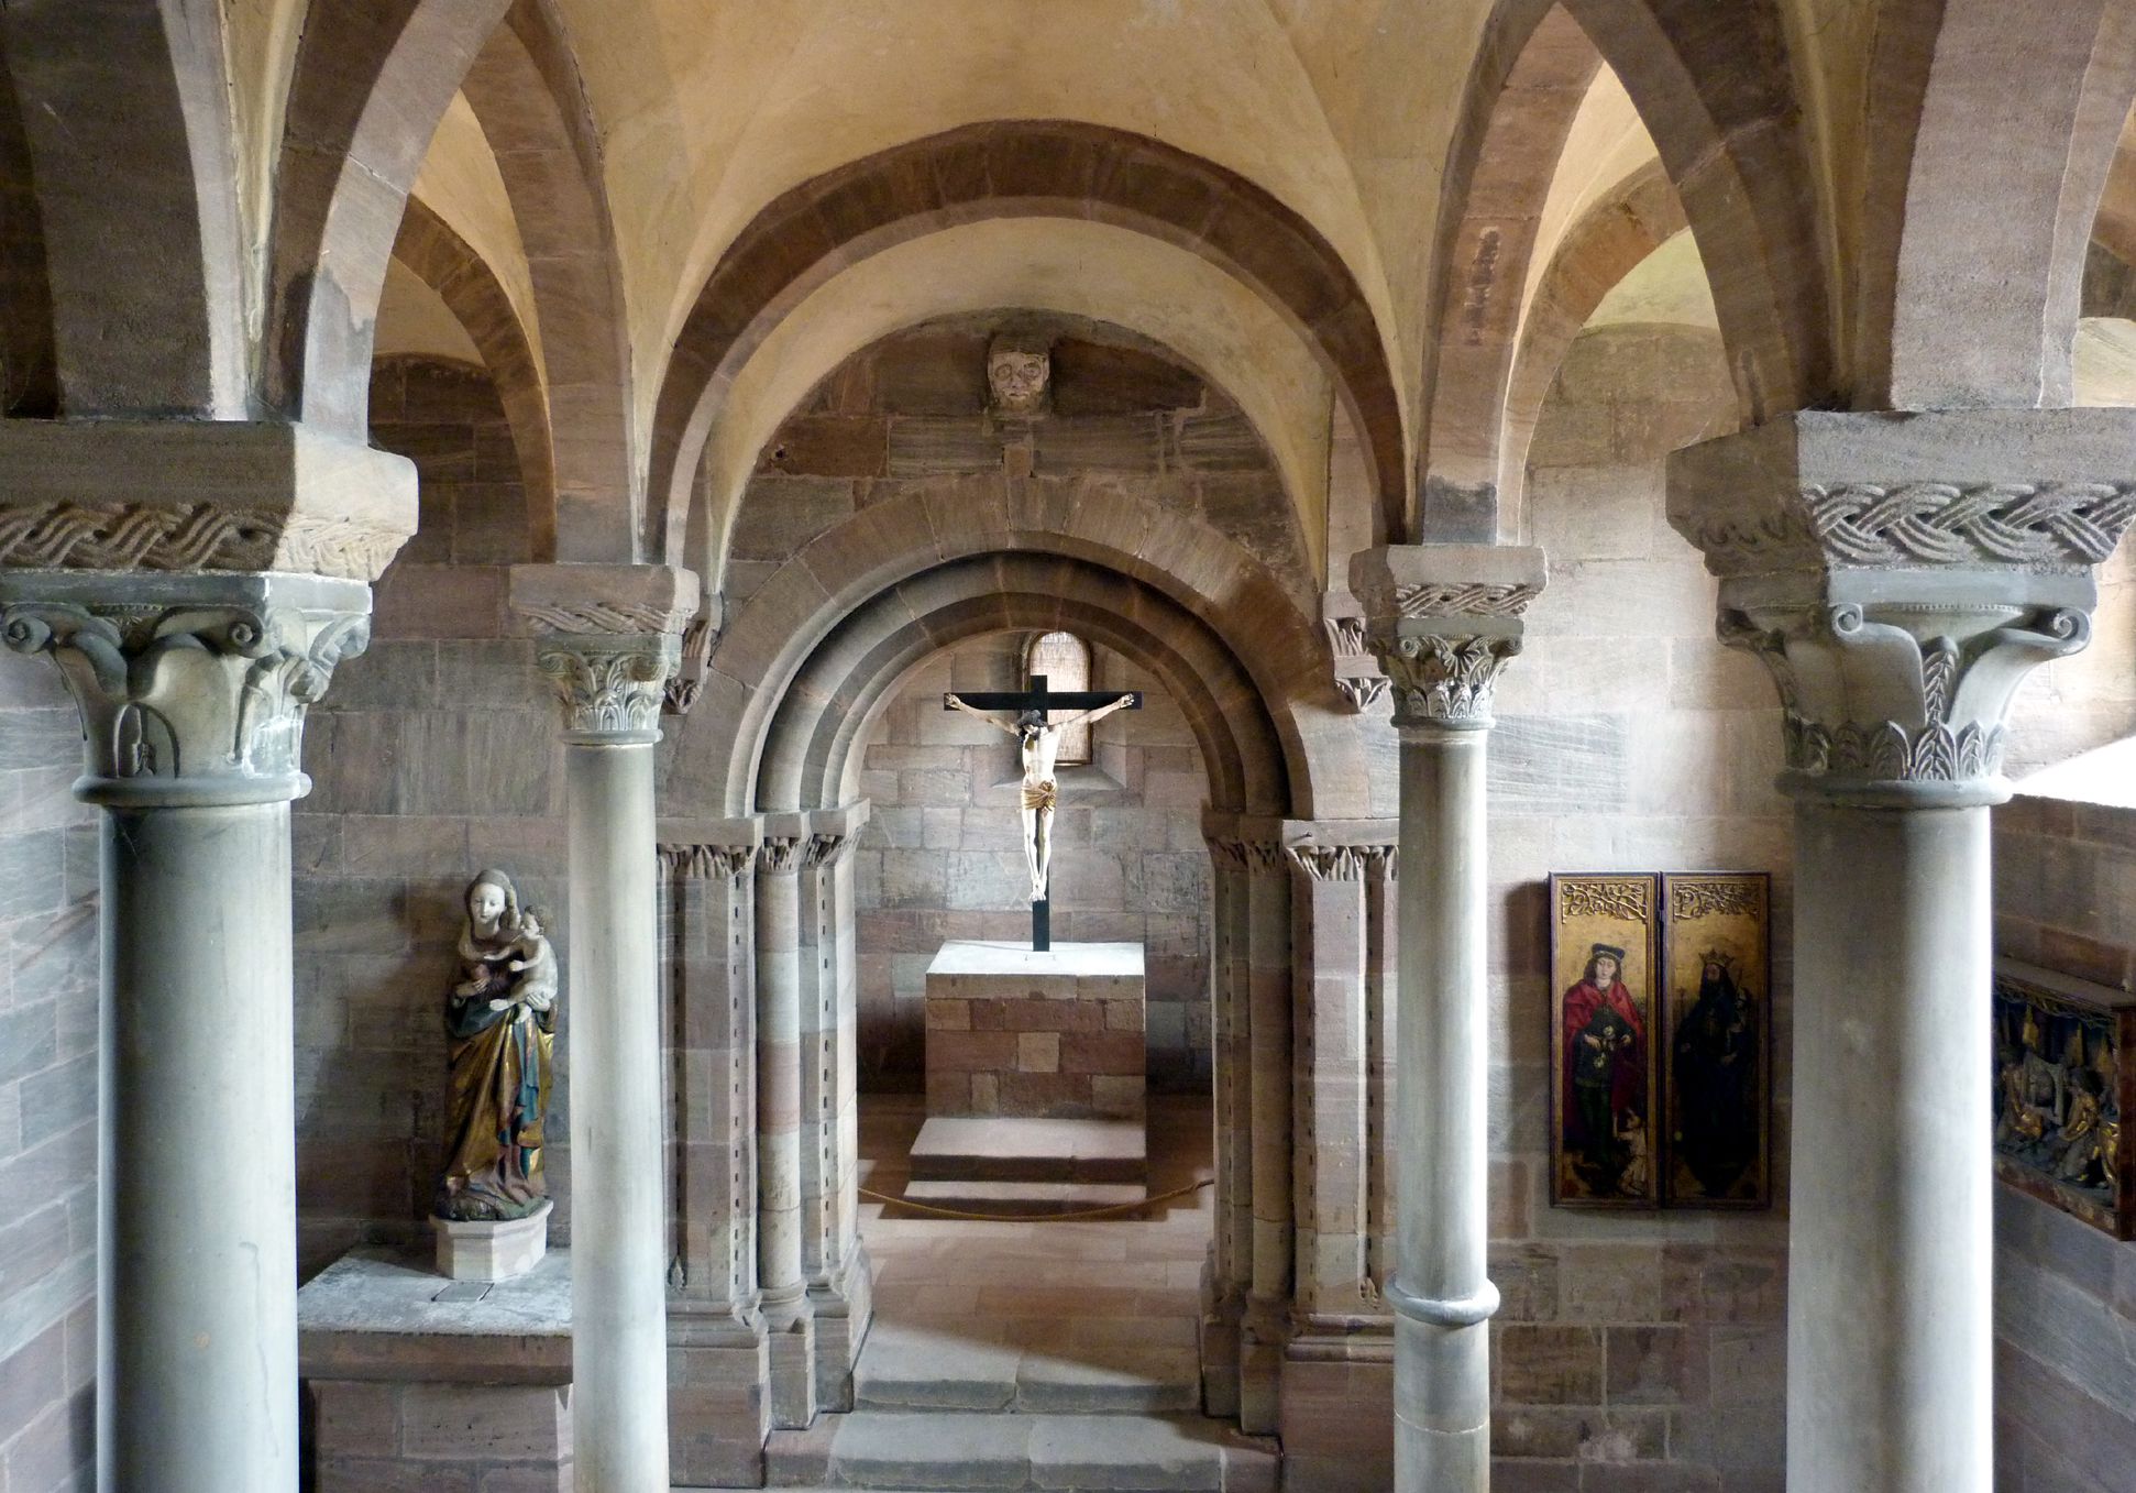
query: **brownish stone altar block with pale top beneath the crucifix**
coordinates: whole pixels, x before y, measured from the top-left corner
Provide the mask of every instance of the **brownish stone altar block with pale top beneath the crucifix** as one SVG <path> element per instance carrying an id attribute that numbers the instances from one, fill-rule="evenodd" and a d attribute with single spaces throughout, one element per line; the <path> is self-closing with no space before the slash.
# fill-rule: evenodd
<path id="1" fill-rule="evenodd" d="M 927 1113 L 1143 1119 L 1143 946 L 953 940 L 927 965 Z"/>

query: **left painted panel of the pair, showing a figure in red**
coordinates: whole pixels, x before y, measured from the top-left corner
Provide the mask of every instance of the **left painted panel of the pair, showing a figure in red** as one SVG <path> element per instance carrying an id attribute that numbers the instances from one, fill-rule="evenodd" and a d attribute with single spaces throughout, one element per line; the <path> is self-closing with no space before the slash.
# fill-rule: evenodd
<path id="1" fill-rule="evenodd" d="M 1658 876 L 1551 876 L 1551 1203 L 1660 1200 Z"/>

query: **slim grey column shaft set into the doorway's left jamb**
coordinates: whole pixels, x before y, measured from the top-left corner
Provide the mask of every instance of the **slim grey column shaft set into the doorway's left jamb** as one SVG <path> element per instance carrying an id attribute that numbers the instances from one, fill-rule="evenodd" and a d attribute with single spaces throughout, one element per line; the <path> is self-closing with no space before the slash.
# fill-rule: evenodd
<path id="1" fill-rule="evenodd" d="M 801 1275 L 799 876 L 756 878 L 756 1271 L 765 1314 L 790 1318 Z"/>

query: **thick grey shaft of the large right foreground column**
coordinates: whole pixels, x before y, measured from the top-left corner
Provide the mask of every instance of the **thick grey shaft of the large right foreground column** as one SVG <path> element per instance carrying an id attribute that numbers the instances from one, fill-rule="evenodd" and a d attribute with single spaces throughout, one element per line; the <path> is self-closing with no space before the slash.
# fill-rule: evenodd
<path id="1" fill-rule="evenodd" d="M 1993 1484 L 1989 812 L 1805 801 L 1788 1487 Z"/>

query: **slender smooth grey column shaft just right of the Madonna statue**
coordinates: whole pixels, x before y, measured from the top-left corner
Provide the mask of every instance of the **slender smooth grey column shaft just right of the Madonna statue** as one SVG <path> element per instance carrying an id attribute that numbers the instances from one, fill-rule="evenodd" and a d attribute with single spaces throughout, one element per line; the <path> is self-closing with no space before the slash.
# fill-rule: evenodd
<path id="1" fill-rule="evenodd" d="M 654 748 L 568 739 L 579 1493 L 669 1487 Z"/>

